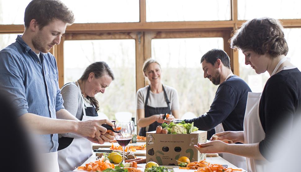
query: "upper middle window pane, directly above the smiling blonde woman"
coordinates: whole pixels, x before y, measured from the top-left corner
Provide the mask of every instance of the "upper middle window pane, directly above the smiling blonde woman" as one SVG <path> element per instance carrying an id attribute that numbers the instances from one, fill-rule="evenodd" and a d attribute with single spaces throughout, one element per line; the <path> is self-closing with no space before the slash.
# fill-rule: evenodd
<path id="1" fill-rule="evenodd" d="M 230 9 L 229 0 L 146 0 L 146 21 L 230 20 Z"/>

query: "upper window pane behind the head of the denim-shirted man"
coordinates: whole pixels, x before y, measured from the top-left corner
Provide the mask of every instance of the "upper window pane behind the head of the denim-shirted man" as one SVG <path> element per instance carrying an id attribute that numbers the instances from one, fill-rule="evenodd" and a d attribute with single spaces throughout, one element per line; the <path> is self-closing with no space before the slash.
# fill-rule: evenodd
<path id="1" fill-rule="evenodd" d="M 24 12 L 31 0 L 1 0 L 0 24 L 24 24 Z M 61 0 L 75 15 L 75 23 L 139 22 L 139 1 Z M 10 8 L 11 7 L 11 8 Z"/>

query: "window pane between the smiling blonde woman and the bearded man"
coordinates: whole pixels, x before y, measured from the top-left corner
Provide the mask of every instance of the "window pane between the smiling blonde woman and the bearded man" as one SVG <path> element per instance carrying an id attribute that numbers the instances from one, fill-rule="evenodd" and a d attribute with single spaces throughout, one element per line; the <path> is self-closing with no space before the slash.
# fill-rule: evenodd
<path id="1" fill-rule="evenodd" d="M 175 88 L 180 103 L 180 117 L 206 113 L 218 86 L 204 78 L 201 57 L 210 49 L 223 49 L 222 38 L 153 39 L 152 58 L 162 68 L 162 82 Z"/>

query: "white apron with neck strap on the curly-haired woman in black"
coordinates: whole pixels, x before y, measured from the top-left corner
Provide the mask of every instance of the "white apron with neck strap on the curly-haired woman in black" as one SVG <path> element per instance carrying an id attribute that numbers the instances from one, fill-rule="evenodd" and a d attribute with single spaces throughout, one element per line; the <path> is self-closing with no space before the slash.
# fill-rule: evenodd
<path id="1" fill-rule="evenodd" d="M 279 66 L 285 62 L 287 58 L 283 58 L 275 67 L 272 75 L 276 73 Z M 271 76 L 272 76 L 271 75 Z M 244 138 L 245 144 L 259 143 L 265 137 L 265 132 L 259 118 L 259 101 L 261 98 L 261 92 L 249 92 L 247 105 L 244 118 Z M 247 171 L 249 172 L 265 172 L 268 171 L 267 160 L 255 160 L 252 158 L 246 158 Z"/>

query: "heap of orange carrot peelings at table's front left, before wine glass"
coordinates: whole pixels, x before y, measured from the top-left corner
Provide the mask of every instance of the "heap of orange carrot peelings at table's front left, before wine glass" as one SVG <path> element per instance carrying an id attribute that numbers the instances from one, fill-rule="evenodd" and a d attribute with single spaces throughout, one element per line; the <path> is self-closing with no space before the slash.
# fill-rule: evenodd
<path id="1" fill-rule="evenodd" d="M 85 170 L 85 171 L 103 171 L 107 168 L 114 169 L 114 164 L 110 163 L 109 160 L 102 161 L 102 160 L 96 160 L 94 162 L 90 162 L 86 164 L 86 166 L 79 166 L 77 167 L 77 170 Z"/>

